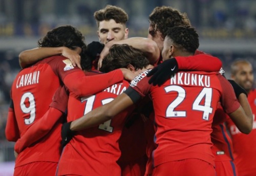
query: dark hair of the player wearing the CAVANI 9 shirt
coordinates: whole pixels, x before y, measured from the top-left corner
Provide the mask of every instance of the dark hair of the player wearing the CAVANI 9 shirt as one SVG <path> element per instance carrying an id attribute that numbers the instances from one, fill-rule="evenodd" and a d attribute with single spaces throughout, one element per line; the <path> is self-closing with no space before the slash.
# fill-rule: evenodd
<path id="1" fill-rule="evenodd" d="M 54 28 L 47 32 L 44 38 L 38 40 L 39 47 L 67 47 L 74 49 L 80 47 L 86 49 L 82 33 L 71 25 Z"/>

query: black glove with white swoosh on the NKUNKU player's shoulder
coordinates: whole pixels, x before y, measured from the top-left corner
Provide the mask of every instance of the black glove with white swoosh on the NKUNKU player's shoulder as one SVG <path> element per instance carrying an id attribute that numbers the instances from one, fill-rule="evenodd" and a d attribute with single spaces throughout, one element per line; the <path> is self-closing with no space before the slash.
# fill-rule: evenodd
<path id="1" fill-rule="evenodd" d="M 149 80 L 149 84 L 153 85 L 162 85 L 164 84 L 171 76 L 175 75 L 178 72 L 178 63 L 175 58 L 171 58 L 163 61 L 155 68 L 153 68 L 149 73 L 148 77 L 152 76 Z"/>

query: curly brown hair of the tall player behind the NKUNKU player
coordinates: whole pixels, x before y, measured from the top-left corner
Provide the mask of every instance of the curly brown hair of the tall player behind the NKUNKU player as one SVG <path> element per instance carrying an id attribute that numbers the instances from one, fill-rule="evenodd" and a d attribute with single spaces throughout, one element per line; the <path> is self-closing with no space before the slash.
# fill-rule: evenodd
<path id="1" fill-rule="evenodd" d="M 167 6 L 154 8 L 149 15 L 149 22 L 156 31 L 161 32 L 163 38 L 169 28 L 191 25 L 186 13 Z"/>

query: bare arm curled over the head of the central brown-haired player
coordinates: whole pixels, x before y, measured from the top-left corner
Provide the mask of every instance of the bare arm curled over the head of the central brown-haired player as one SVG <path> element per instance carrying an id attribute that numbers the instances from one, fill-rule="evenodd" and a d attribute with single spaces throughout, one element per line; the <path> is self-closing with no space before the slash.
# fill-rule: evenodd
<path id="1" fill-rule="evenodd" d="M 103 58 L 108 54 L 109 48 L 114 44 L 127 44 L 132 46 L 133 48 L 141 50 L 149 60 L 150 64 L 155 64 L 160 56 L 160 50 L 157 46 L 157 43 L 151 39 L 143 38 L 143 37 L 132 37 L 119 41 L 109 41 L 103 51 L 101 51 L 98 68 L 101 67 L 101 62 Z"/>

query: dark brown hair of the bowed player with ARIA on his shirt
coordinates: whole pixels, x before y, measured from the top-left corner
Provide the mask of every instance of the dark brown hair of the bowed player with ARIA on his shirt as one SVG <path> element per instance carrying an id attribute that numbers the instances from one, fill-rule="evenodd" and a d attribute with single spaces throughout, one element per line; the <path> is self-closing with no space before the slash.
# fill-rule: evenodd
<path id="1" fill-rule="evenodd" d="M 139 49 L 127 44 L 113 45 L 109 54 L 103 59 L 101 72 L 107 73 L 117 68 L 127 68 L 131 64 L 135 70 L 142 69 L 149 65 L 149 60 Z"/>

